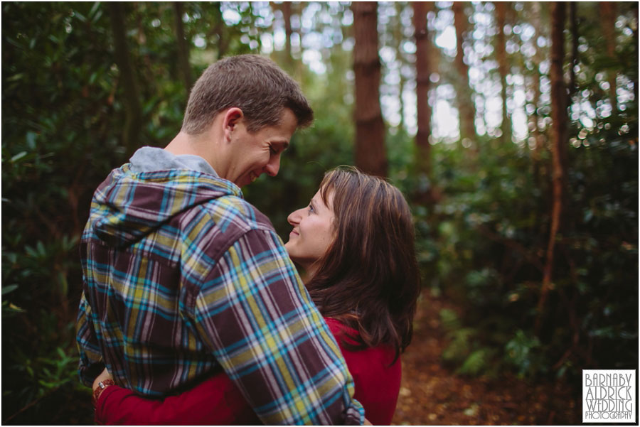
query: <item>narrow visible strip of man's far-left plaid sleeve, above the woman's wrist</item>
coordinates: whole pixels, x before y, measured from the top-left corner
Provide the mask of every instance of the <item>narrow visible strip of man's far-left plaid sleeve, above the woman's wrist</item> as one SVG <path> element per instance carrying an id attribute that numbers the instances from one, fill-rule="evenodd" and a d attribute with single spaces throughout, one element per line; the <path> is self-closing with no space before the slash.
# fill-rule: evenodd
<path id="1" fill-rule="evenodd" d="M 102 355 L 100 355 L 100 345 L 97 343 L 90 316 L 91 306 L 87 301 L 85 293 L 82 292 L 80 307 L 78 308 L 78 318 L 75 322 L 75 339 L 80 355 L 78 374 L 80 375 L 82 384 L 85 384 L 87 387 L 92 387 L 95 377 L 102 372 L 102 369 L 105 369 L 105 364 L 102 362 Z"/>

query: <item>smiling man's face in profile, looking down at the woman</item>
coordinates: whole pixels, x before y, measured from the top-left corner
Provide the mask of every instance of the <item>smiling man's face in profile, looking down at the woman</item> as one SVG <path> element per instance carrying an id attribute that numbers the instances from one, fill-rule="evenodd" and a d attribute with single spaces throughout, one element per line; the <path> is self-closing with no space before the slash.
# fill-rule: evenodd
<path id="1" fill-rule="evenodd" d="M 297 127 L 293 112 L 285 108 L 280 123 L 266 126 L 255 133 L 247 131 L 246 121 L 238 121 L 231 134 L 229 172 L 225 177 L 242 188 L 262 173 L 275 176 L 280 168 L 280 156 L 289 146 Z"/>

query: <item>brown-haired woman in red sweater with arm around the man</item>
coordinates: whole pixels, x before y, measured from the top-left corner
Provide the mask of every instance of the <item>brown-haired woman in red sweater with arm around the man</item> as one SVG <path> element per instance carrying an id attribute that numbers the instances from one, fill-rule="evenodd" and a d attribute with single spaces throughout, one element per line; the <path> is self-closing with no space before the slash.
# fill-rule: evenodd
<path id="1" fill-rule="evenodd" d="M 400 353 L 412 336 L 420 292 L 411 212 L 398 188 L 356 168 L 325 174 L 308 207 L 289 215 L 285 244 L 336 337 L 374 424 L 390 424 L 400 391 Z M 108 375 L 108 374 L 105 374 Z M 255 424 L 260 420 L 225 374 L 163 400 L 97 388 L 97 423 Z M 212 404 L 216 402 L 218 404 Z"/>

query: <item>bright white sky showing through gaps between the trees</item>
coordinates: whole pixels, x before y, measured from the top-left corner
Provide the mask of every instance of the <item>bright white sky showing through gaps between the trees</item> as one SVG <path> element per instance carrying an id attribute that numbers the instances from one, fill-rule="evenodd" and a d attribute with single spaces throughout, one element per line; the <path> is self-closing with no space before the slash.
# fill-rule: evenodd
<path id="1" fill-rule="evenodd" d="M 433 35 L 434 44 L 439 48 L 442 59 L 452 61 L 456 55 L 456 32 L 454 28 L 454 15 L 451 2 L 436 2 L 437 13 L 430 12 L 428 16 L 428 30 Z M 496 77 L 497 63 L 491 58 L 494 51 L 493 37 L 495 33 L 494 23 L 494 6 L 490 2 L 480 3 L 472 2 L 473 15 L 470 18 L 469 39 L 465 43 L 465 61 L 469 64 L 469 81 L 476 95 L 474 102 L 476 104 L 476 131 L 479 135 L 488 134 L 489 136 L 498 137 L 501 134 L 500 126 L 502 120 L 502 100 L 500 97 L 500 81 Z M 242 5 L 242 4 L 241 4 Z M 244 3 L 244 7 L 248 4 Z M 353 49 L 353 38 L 343 39 L 341 26 L 351 26 L 353 16 L 349 9 L 341 11 L 339 16 L 331 15 L 332 5 L 326 4 L 328 8 L 321 7 L 318 3 L 300 4 L 300 14 L 292 15 L 292 54 L 309 66 L 309 68 L 318 75 L 326 73 L 326 58 L 322 53 L 323 49 L 330 48 L 331 45 L 341 44 L 343 50 L 350 51 Z M 242 10 L 242 6 L 238 4 L 229 5 L 223 12 L 223 18 L 229 25 L 237 24 L 242 20 L 242 16 L 238 13 L 238 7 Z M 522 10 L 522 4 L 516 5 L 516 9 Z M 408 11 L 410 8 L 405 9 Z M 282 12 L 272 11 L 267 2 L 252 2 L 252 10 L 257 18 L 254 31 L 260 31 L 260 42 L 262 53 L 269 54 L 272 50 L 283 50 L 285 45 L 284 20 Z M 329 12 L 328 12 L 329 11 Z M 415 54 L 415 44 L 412 41 L 412 28 L 410 15 L 402 11 L 402 16 L 398 15 L 398 9 L 393 2 L 379 2 L 378 20 L 379 32 L 382 35 L 388 31 L 386 26 L 390 19 L 400 19 L 405 30 L 403 35 L 406 40 L 401 45 L 402 54 L 407 58 L 412 58 Z M 188 19 L 188 17 L 185 17 Z M 321 24 L 319 26 L 319 24 Z M 267 28 L 272 26 L 272 31 Z M 264 28 L 264 29 L 262 29 Z M 507 35 L 517 36 L 517 43 L 509 40 L 506 45 L 508 54 L 520 53 L 524 58 L 533 58 L 538 48 L 545 48 L 550 41 L 544 34 L 536 36 L 535 28 L 530 23 L 516 23 L 511 26 L 507 24 L 505 27 Z M 302 35 L 302 38 L 301 38 Z M 469 43 L 469 40 L 472 40 Z M 248 41 L 248 38 L 247 38 Z M 194 41 L 198 45 L 198 38 Z M 257 47 L 255 40 L 252 48 Z M 203 44 L 203 41 L 202 41 Z M 379 50 L 380 59 L 383 62 L 385 75 L 383 76 L 383 88 L 381 90 L 380 102 L 383 109 L 383 116 L 391 126 L 400 125 L 400 114 L 404 114 L 403 123 L 409 134 L 415 134 L 417 131 L 416 124 L 416 105 L 415 105 L 415 70 L 412 67 L 403 67 L 400 62 L 398 50 L 394 46 L 380 43 Z M 540 70 L 545 73 L 548 70 L 548 58 L 541 58 Z M 580 70 L 577 70 L 580 72 Z M 350 70 L 347 71 L 348 78 L 353 80 Z M 398 83 L 400 82 L 400 73 L 409 80 L 409 84 L 405 85 L 402 94 L 399 94 Z M 413 81 L 411 81 L 413 80 Z M 432 72 L 430 77 L 432 81 L 432 89 L 430 90 L 430 104 L 432 106 L 432 143 L 440 141 L 452 142 L 459 139 L 459 114 L 456 107 L 456 90 L 453 85 L 442 79 L 436 71 Z M 550 95 L 548 80 L 543 77 L 541 85 L 543 104 L 550 104 Z M 606 79 L 600 76 L 602 85 L 608 85 Z M 508 107 L 513 126 L 513 139 L 520 144 L 527 141 L 528 124 L 527 119 L 530 112 L 526 111 L 527 91 L 525 85 L 525 77 L 521 74 L 509 74 L 507 76 L 509 87 Z M 626 83 L 626 82 L 625 82 Z M 386 86 L 386 87 L 385 87 Z M 619 98 L 626 99 L 633 96 L 632 90 L 626 85 L 619 85 Z M 402 97 L 403 112 L 400 111 Z M 349 102 L 353 97 L 346 97 Z M 599 114 L 606 116 L 607 109 L 611 109 L 609 104 L 602 106 Z M 593 126 L 592 119 L 596 112 L 592 109 L 589 102 L 582 102 L 572 105 L 573 118 L 578 118 L 586 127 Z"/>

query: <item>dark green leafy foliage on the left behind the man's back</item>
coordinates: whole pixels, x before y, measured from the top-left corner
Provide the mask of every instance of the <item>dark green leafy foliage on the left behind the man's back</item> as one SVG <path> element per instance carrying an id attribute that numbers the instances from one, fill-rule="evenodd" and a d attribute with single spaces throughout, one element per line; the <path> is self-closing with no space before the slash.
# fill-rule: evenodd
<path id="1" fill-rule="evenodd" d="M 114 64 L 104 3 L 10 2 L 1 8 L 6 420 L 23 408 L 37 411 L 55 390 L 79 387 L 73 328 L 82 285 L 78 239 L 93 190 L 127 161 L 128 94 Z M 175 60 L 174 7 L 124 8 L 129 59 L 140 85 L 137 146 L 165 145 L 180 129 L 188 92 Z M 186 38 L 201 36 L 209 46 L 228 38 L 218 55 L 249 52 L 254 14 L 240 9 L 238 24 L 227 26 L 220 4 L 187 4 Z M 203 34 L 209 24 L 218 31 Z M 240 42 L 244 34 L 247 43 Z M 194 56 L 193 76 L 215 60 Z"/>

